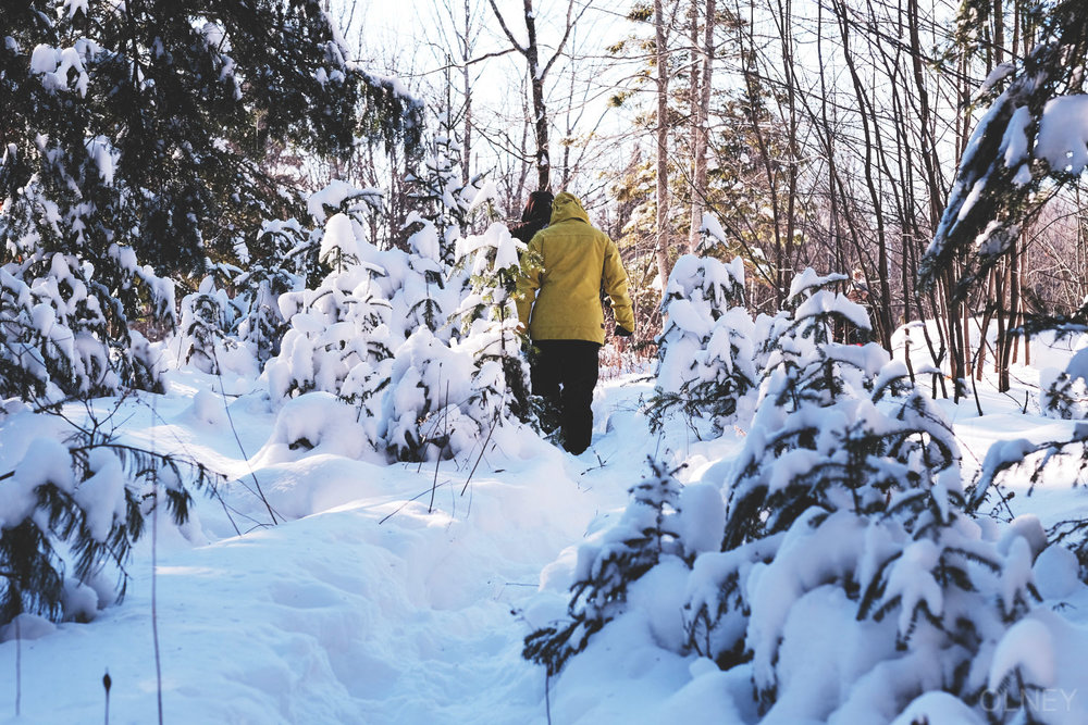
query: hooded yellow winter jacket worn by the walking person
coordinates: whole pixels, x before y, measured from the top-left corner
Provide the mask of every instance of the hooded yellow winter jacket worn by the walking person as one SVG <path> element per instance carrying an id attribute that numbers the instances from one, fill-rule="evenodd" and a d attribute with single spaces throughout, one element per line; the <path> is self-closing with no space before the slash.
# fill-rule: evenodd
<path id="1" fill-rule="evenodd" d="M 627 272 L 619 249 L 590 224 L 582 203 L 560 193 L 552 222 L 529 241 L 518 279 L 518 317 L 534 340 L 604 343 L 601 284 L 611 299 L 616 324 L 634 332 Z"/>

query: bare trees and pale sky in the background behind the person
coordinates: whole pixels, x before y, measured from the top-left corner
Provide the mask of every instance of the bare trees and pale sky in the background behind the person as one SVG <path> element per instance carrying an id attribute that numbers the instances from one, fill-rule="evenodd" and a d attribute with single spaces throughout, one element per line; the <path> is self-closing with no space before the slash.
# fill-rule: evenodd
<path id="1" fill-rule="evenodd" d="M 913 343 L 953 379 L 989 366 L 1003 389 L 1009 365 L 1030 355 L 1009 330 L 1084 301 L 1078 183 L 1041 190 L 1044 208 L 969 290 L 956 290 L 967 252 L 931 285 L 917 282 L 981 113 L 1054 37 L 1062 12 L 1051 5 L 658 0 L 620 14 L 573 0 L 522 4 L 423 3 L 428 42 L 407 52 L 367 32 L 364 3 L 342 7 L 341 17 L 368 61 L 446 120 L 462 182 L 493 180 L 500 216 L 517 218 L 546 184 L 588 197 L 626 250 L 643 343 L 659 330 L 664 280 L 688 251 L 742 258 L 750 303 L 764 311 L 781 305 L 806 266 L 843 272 L 885 347 L 904 324 L 940 318 L 936 336 Z M 382 184 L 375 149 L 359 153 L 367 163 L 337 172 Z M 412 167 L 409 158 L 386 162 L 394 179 Z M 403 208 L 393 188 L 390 208 Z M 994 330 L 992 349 L 978 345 Z"/>

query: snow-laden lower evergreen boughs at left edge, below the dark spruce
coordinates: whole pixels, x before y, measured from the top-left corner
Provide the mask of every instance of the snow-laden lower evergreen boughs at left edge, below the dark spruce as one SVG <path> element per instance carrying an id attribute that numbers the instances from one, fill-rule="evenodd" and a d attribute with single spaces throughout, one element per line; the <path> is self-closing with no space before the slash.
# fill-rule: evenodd
<path id="1" fill-rule="evenodd" d="M 126 310 L 138 309 L 135 300 L 145 295 L 152 316 L 172 325 L 173 285 L 118 245 L 96 266 L 46 252 L 33 235 L 23 242 L 12 248 L 14 261 L 0 266 L 0 397 L 157 389 L 157 355 L 129 329 Z"/>

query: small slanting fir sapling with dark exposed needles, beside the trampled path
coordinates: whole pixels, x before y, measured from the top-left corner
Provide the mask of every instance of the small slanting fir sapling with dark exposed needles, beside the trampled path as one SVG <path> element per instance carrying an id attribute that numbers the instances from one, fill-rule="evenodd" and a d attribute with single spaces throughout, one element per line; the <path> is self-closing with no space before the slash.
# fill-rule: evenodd
<path id="1" fill-rule="evenodd" d="M 578 552 L 568 605 L 570 620 L 526 637 L 522 657 L 558 674 L 590 638 L 623 613 L 628 587 L 665 558 L 684 561 L 676 471 L 650 459 L 650 475 L 629 490 L 630 501 L 615 527 Z"/>

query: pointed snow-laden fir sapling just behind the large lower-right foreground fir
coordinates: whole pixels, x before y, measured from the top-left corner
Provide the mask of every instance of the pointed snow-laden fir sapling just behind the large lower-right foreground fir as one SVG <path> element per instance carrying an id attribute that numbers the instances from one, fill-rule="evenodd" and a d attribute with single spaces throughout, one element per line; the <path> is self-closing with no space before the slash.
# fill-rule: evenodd
<path id="1" fill-rule="evenodd" d="M 866 463 L 868 447 L 890 443 L 881 442 L 879 430 L 866 429 L 866 418 L 880 397 L 904 385 L 903 376 L 892 375 L 863 404 L 889 358 L 874 343 L 855 347 L 831 339 L 842 318 L 868 329 L 865 311 L 829 289 L 843 278 L 806 270 L 791 286 L 794 308 L 788 316 L 764 323 L 778 337 L 766 346 L 758 408 L 730 488 L 725 549 L 784 530 L 827 495 L 832 482 L 856 490 L 865 476 L 851 466 Z M 852 472 L 856 478 L 839 480 Z"/>

